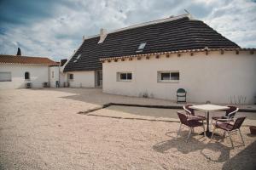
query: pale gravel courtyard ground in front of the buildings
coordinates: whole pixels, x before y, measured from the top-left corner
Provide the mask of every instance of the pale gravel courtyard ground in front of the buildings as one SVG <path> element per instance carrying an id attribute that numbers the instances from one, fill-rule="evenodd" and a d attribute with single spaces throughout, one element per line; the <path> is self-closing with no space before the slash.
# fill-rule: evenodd
<path id="1" fill-rule="evenodd" d="M 241 128 L 246 146 L 234 134 L 232 150 L 229 139 L 210 141 L 193 134 L 186 143 L 187 129 L 175 139 L 177 122 L 149 121 L 158 117 L 155 113 L 175 119 L 175 110 L 111 106 L 95 115 L 78 114 L 120 100 L 168 104 L 166 100 L 102 94 L 94 88 L 1 90 L 0 169 L 255 168 L 256 136 L 249 134 L 247 126 Z M 256 113 L 240 114 L 248 117 L 249 124 L 255 123 Z M 111 117 L 116 115 L 120 117 Z M 200 132 L 200 127 L 195 129 Z"/>

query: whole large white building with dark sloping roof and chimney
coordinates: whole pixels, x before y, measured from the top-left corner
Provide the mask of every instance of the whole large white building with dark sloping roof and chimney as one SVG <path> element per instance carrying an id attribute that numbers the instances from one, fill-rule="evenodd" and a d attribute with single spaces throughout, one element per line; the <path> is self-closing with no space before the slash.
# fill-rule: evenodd
<path id="1" fill-rule="evenodd" d="M 254 51 L 183 14 L 84 38 L 64 72 L 107 94 L 176 100 L 184 88 L 189 102 L 253 104 Z"/>

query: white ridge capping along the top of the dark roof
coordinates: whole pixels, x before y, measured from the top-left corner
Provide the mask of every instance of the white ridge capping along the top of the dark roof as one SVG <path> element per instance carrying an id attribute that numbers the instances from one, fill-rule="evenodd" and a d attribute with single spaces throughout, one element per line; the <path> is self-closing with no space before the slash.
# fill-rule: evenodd
<path id="1" fill-rule="evenodd" d="M 192 19 L 191 14 L 180 14 L 180 15 L 177 15 L 177 16 L 170 16 L 168 18 L 164 18 L 164 19 L 160 19 L 160 20 L 151 20 L 151 21 L 140 23 L 140 24 L 125 26 L 123 28 L 119 28 L 119 29 L 116 29 L 116 30 L 113 30 L 113 31 L 109 31 L 109 32 L 107 32 L 107 34 L 112 34 L 112 33 L 115 33 L 115 32 L 130 30 L 130 29 L 133 29 L 133 28 L 138 28 L 138 27 L 143 27 L 143 26 L 150 26 L 150 25 L 160 24 L 160 23 L 169 22 L 169 21 L 172 21 L 172 20 L 179 20 L 179 19 L 183 19 L 183 18 L 186 18 L 186 17 L 188 17 L 190 20 Z M 193 19 L 193 20 L 195 20 L 195 19 Z M 85 37 L 84 40 L 88 40 L 90 38 L 99 37 L 99 36 L 100 36 L 100 34 L 96 34 L 94 36 Z"/>

